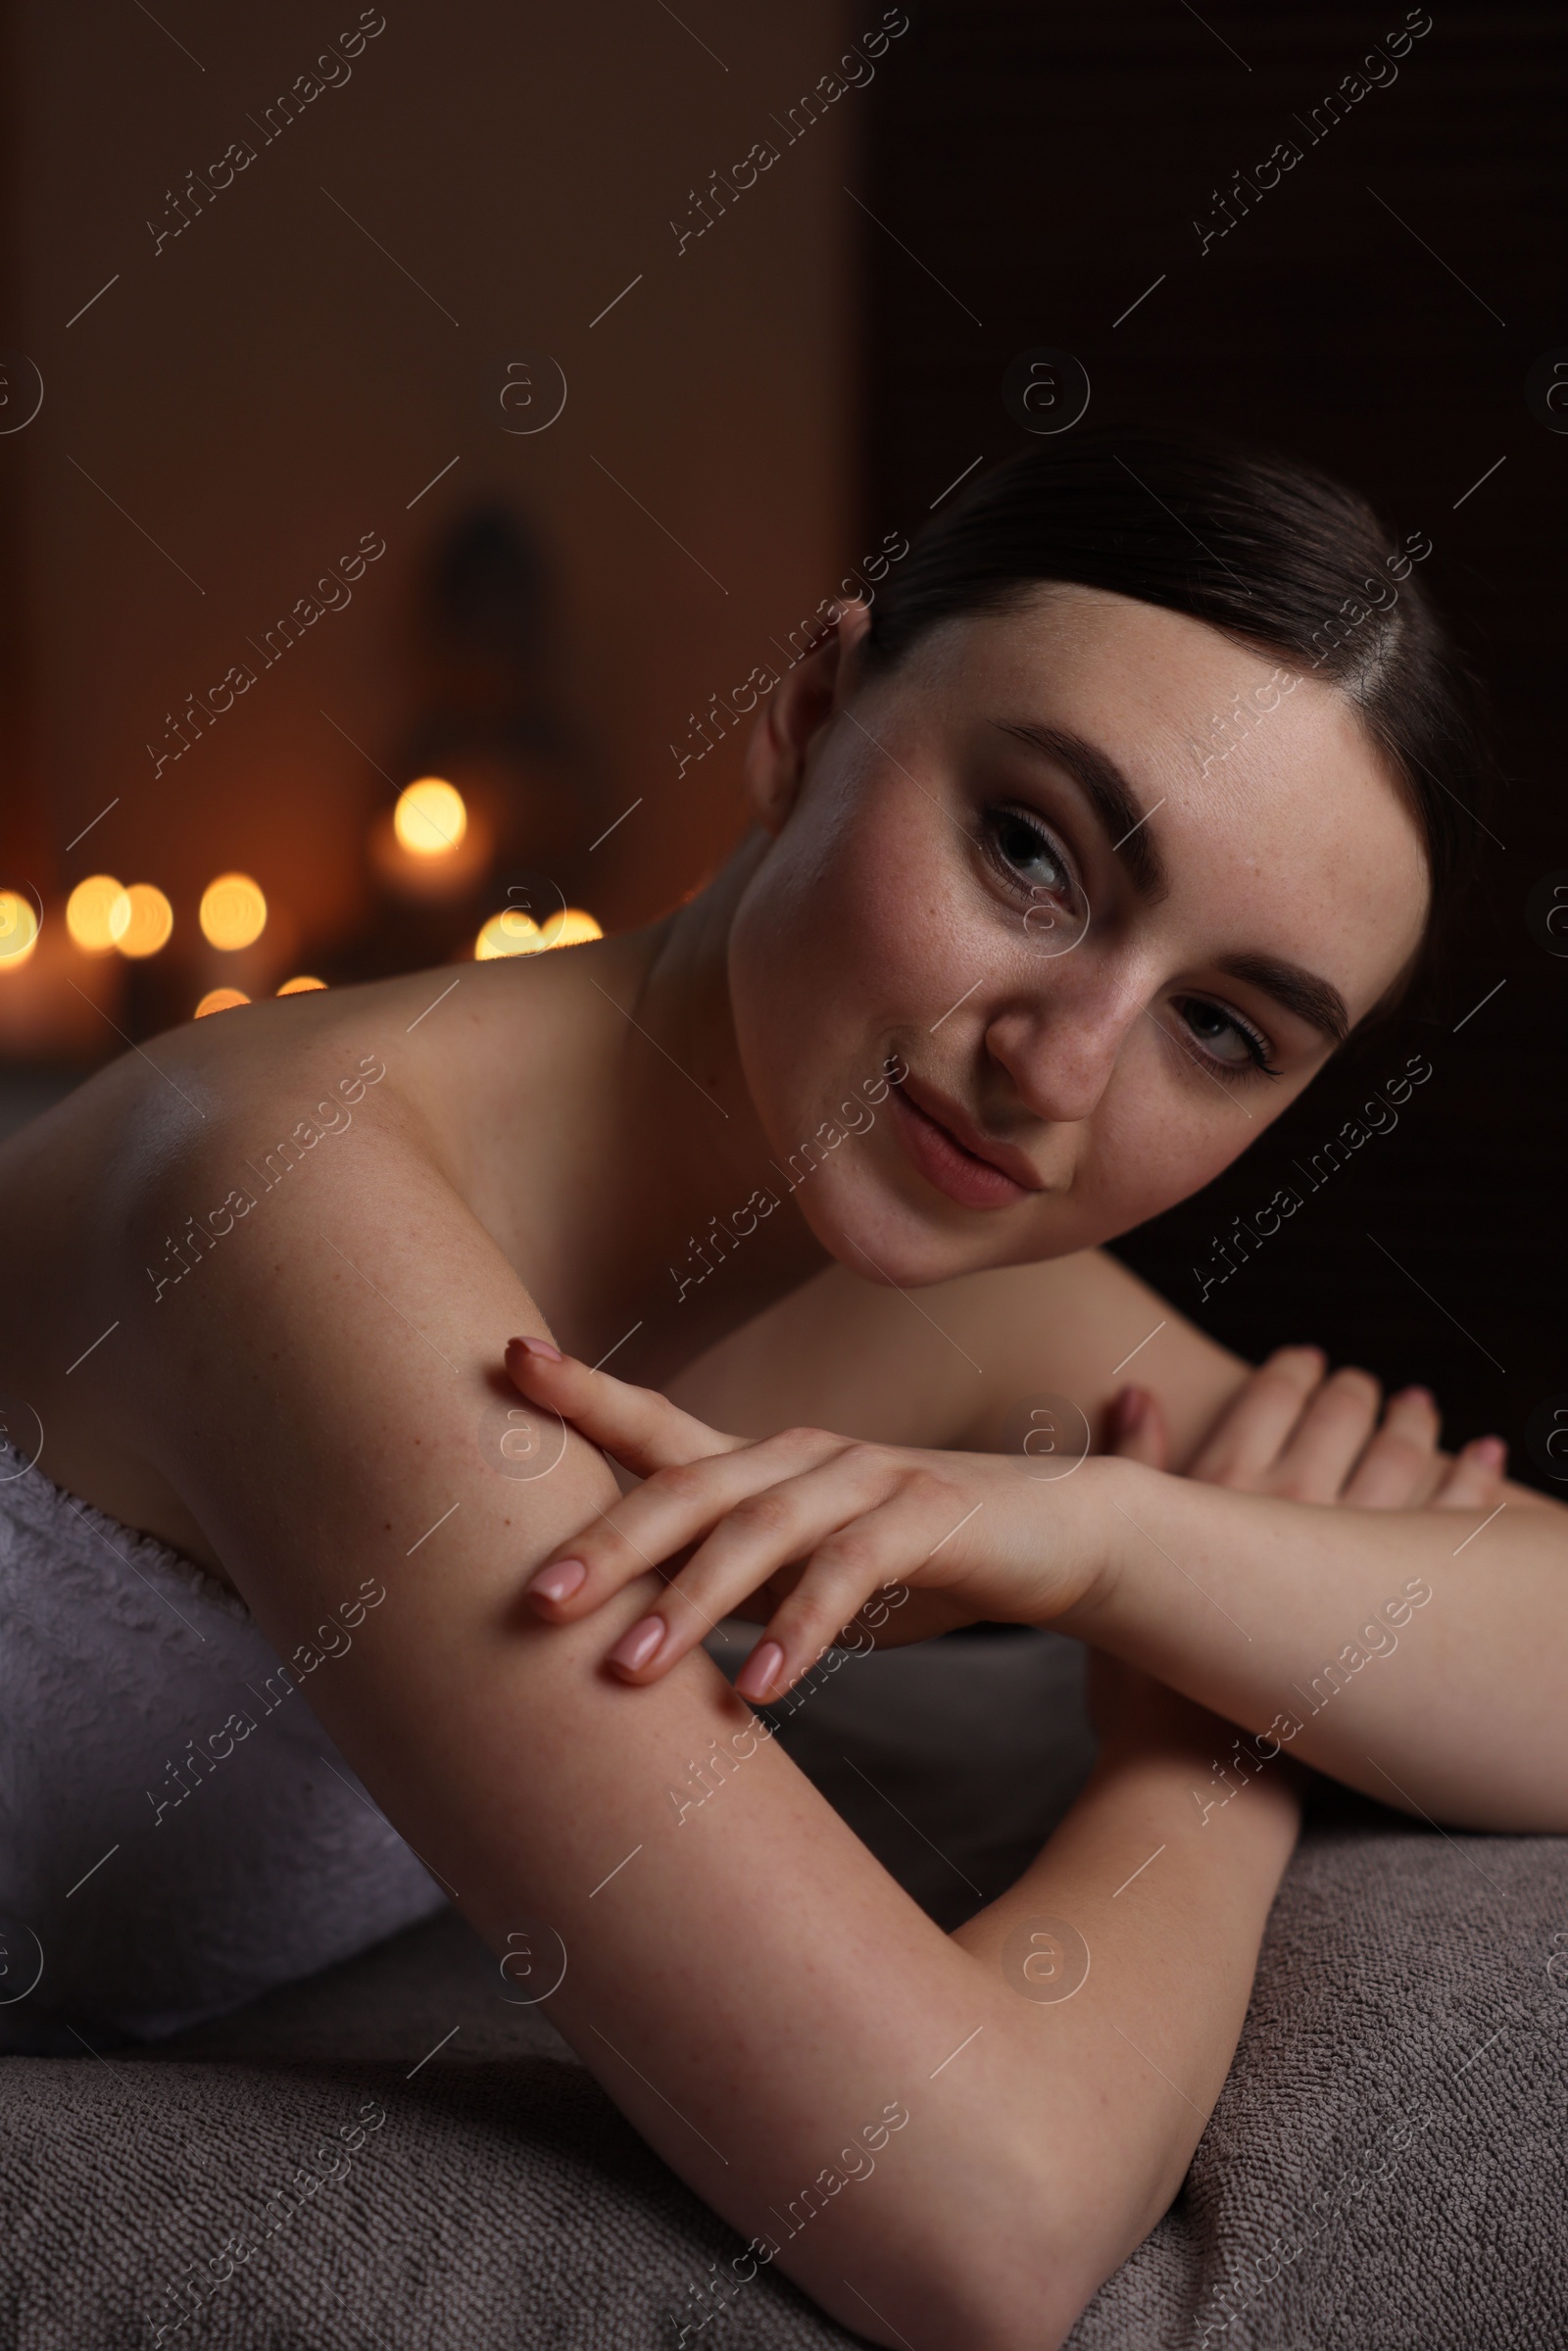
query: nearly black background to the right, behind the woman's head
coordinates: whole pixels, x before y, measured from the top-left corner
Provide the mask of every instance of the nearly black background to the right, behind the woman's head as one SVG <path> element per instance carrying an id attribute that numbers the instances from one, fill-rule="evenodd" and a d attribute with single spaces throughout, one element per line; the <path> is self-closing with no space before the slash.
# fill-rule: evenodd
<path id="1" fill-rule="evenodd" d="M 1399 80 L 1316 146 L 1295 115 L 1403 7 L 1213 5 L 1204 24 L 1180 0 L 926 0 L 912 16 L 870 94 L 875 209 L 910 249 L 860 223 L 870 513 L 919 513 L 973 456 L 1025 447 L 999 379 L 1058 346 L 1088 369 L 1098 423 L 1265 440 L 1363 489 L 1394 534 L 1425 529 L 1422 581 L 1495 703 L 1497 842 L 1436 992 L 1117 1253 L 1248 1357 L 1316 1340 L 1432 1385 L 1450 1439 L 1495 1429 L 1544 1483 L 1526 1427 L 1568 1392 L 1568 959 L 1530 938 L 1526 898 L 1568 868 L 1568 435 L 1535 421 L 1523 379 L 1568 343 L 1561 9 L 1434 0 Z M 1201 252 L 1192 221 L 1222 219 L 1215 190 L 1279 139 L 1302 160 Z M 1307 1192 L 1293 1161 L 1418 1051 L 1432 1077 L 1399 1128 Z M 1199 1302 L 1213 1237 L 1284 1183 L 1302 1211 Z"/>

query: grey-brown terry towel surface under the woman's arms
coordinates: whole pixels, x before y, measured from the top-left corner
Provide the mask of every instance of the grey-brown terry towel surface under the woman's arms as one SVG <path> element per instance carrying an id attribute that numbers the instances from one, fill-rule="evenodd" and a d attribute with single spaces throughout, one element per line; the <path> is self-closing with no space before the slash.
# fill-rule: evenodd
<path id="1" fill-rule="evenodd" d="M 1077 1681 L 1048 1634 L 926 1643 L 844 1665 L 785 1740 L 964 1914 L 959 1876 L 990 1897 L 1086 1768 Z M 776 2269 L 743 2283 L 741 2238 L 451 1914 L 165 2052 L 0 2083 L 16 2351 L 858 2342 Z M 1568 1841 L 1326 1808 L 1187 2184 L 1070 2351 L 1561 2351 L 1566 2085 Z"/>

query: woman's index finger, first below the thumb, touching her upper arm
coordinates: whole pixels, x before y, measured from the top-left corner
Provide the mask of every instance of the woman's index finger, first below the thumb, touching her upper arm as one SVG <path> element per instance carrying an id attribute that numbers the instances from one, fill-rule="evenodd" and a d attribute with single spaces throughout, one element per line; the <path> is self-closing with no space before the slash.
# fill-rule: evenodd
<path id="1" fill-rule="evenodd" d="M 701 1542 L 741 1502 L 842 1451 L 844 1439 L 827 1436 L 825 1429 L 785 1429 L 755 1446 L 656 1469 L 611 1509 L 597 1512 L 576 1535 L 557 1542 L 524 1589 L 552 1622 L 576 1622 L 623 1592 L 644 1568 L 661 1568 Z"/>

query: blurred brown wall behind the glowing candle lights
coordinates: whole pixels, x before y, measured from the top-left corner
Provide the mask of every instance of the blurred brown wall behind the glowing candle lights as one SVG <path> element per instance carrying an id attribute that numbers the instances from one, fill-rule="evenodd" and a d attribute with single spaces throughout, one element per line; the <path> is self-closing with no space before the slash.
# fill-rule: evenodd
<path id="1" fill-rule="evenodd" d="M 7 863 L 40 858 L 45 898 L 155 882 L 176 929 L 244 868 L 301 952 L 339 933 L 393 797 L 418 567 L 503 498 L 557 567 L 604 823 L 642 799 L 583 896 L 623 924 L 691 886 L 736 832 L 738 750 L 677 781 L 670 743 L 853 555 L 844 181 L 867 101 L 790 118 L 844 31 L 839 0 L 26 0 L 0 341 L 45 402 L 0 468 L 42 844 L 14 795 Z M 776 160 L 741 188 L 757 141 Z M 505 430 L 529 421 L 505 367 L 541 353 L 564 409 Z M 386 552 L 317 592 L 362 538 Z M 303 597 L 339 609 L 268 668 Z M 256 682 L 221 708 L 233 665 Z"/>

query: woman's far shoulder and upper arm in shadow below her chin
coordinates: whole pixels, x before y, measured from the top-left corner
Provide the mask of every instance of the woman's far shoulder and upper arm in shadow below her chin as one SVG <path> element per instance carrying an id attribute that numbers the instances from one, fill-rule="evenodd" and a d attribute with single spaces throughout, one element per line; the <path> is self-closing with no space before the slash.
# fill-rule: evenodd
<path id="1" fill-rule="evenodd" d="M 922 1291 L 835 1265 L 691 1364 L 672 1394 L 752 1436 L 811 1422 L 882 1444 L 997 1448 L 1032 1396 L 1098 1434 L 1126 1380 L 1152 1387 L 1173 1441 L 1197 1441 L 1246 1364 L 1103 1248 Z"/>

